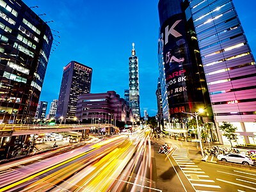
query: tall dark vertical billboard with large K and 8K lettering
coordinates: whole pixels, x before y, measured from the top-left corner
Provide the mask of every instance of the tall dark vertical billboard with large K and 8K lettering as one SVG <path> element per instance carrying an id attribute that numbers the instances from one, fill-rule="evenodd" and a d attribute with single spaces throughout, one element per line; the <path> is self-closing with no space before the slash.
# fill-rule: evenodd
<path id="1" fill-rule="evenodd" d="M 171 116 L 191 111 L 193 108 L 193 68 L 189 56 L 186 34 L 186 20 L 182 13 L 173 15 L 161 27 L 160 49 L 163 51 L 163 65 Z"/>

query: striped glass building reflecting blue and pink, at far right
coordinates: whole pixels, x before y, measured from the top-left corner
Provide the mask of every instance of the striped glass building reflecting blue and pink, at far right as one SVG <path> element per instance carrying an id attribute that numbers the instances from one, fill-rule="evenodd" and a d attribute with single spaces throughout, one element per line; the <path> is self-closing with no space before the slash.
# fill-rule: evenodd
<path id="1" fill-rule="evenodd" d="M 216 124 L 230 122 L 237 127 L 238 143 L 256 143 L 255 60 L 233 2 L 193 0 L 188 8 Z"/>

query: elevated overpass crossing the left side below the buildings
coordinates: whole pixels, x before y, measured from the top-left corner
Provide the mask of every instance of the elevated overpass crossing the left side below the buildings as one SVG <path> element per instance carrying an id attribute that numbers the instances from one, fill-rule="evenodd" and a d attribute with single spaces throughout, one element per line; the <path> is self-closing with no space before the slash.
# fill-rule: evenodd
<path id="1" fill-rule="evenodd" d="M 92 128 L 106 128 L 110 132 L 113 127 L 115 132 L 119 132 L 119 128 L 112 124 L 70 124 L 70 125 L 0 125 L 0 138 L 10 136 L 20 136 L 27 134 L 42 134 L 47 132 L 66 132 L 66 131 L 79 131 L 90 130 Z"/>

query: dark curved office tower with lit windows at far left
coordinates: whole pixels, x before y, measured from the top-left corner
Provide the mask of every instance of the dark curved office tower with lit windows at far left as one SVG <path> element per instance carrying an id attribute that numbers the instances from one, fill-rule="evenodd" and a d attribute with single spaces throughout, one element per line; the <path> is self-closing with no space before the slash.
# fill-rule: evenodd
<path id="1" fill-rule="evenodd" d="M 51 29 L 23 1 L 3 0 L 0 36 L 0 123 L 32 123 L 51 52 Z"/>

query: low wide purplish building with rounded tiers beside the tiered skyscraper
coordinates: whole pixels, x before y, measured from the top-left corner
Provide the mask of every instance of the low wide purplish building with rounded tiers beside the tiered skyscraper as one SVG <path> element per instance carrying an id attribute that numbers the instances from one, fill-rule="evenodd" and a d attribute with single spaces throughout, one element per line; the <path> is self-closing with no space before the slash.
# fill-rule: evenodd
<path id="1" fill-rule="evenodd" d="M 79 95 L 76 117 L 92 124 L 113 124 L 131 122 L 129 105 L 114 91 L 106 93 L 87 93 Z"/>

